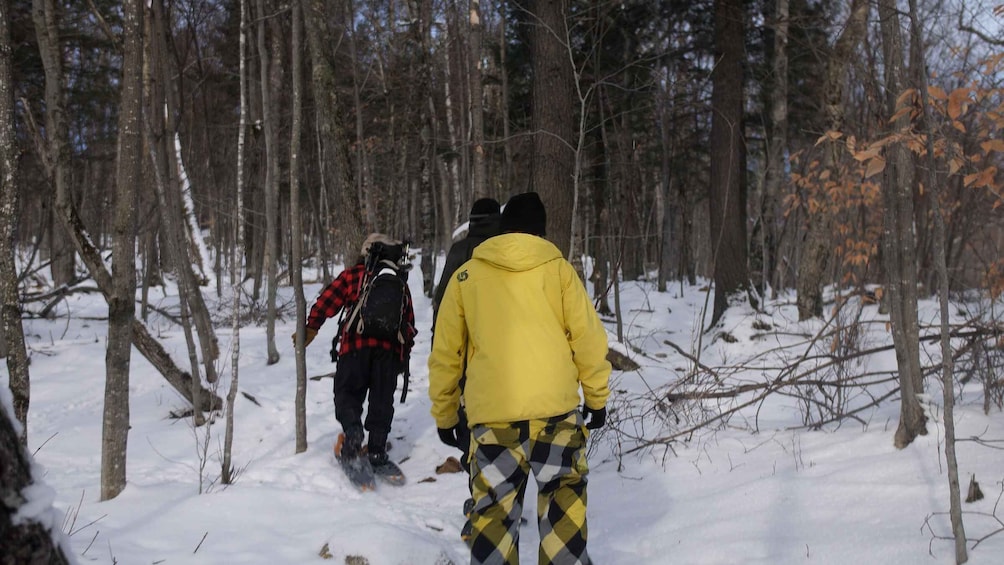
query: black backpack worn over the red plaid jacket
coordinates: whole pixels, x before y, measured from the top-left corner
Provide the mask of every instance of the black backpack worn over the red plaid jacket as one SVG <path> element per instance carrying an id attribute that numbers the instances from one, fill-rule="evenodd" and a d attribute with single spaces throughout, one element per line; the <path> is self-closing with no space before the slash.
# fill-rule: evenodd
<path id="1" fill-rule="evenodd" d="M 407 261 L 407 244 L 370 245 L 359 296 L 345 320 L 349 333 L 405 342 Z"/>

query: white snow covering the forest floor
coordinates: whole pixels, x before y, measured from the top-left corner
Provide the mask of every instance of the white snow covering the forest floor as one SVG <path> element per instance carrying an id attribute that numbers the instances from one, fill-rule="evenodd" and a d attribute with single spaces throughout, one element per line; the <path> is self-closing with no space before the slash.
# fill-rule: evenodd
<path id="1" fill-rule="evenodd" d="M 41 485 L 24 493 L 30 506 L 21 513 L 37 515 L 51 503 L 63 516 L 55 523 L 61 522 L 79 563 L 346 563 L 351 556 L 372 565 L 467 563 L 469 553 L 459 538 L 466 476 L 435 471 L 458 452 L 439 443 L 429 413 L 426 361 L 432 308 L 421 292 L 419 268 L 416 260 L 410 284 L 421 333 L 412 355 L 412 388 L 407 402 L 396 404 L 391 438 L 391 456 L 408 475 L 406 486 L 379 485 L 375 492 L 358 493 L 341 476 L 331 453 L 340 429 L 330 378 L 308 382 L 309 448 L 293 453 L 295 360 L 288 336 L 294 316 L 287 313 L 277 324 L 282 358 L 271 366 L 265 363 L 265 328 L 241 328 L 240 390 L 254 400 L 237 396 L 235 484 L 219 483 L 223 418 L 195 431 L 188 419 L 171 417 L 186 402 L 134 350 L 129 484 L 115 499 L 99 502 L 106 307 L 99 295 L 79 293 L 59 309 L 60 315 L 68 311 L 69 319 L 24 320 L 31 355 L 29 452 Z M 324 281 L 309 273 L 304 278 L 312 280 L 304 289 L 312 299 Z M 291 294 L 288 287 L 281 288 L 279 302 L 291 303 Z M 211 288 L 206 297 L 224 307 L 231 303 L 227 296 L 217 298 Z M 793 297 L 784 295 L 768 302 L 760 314 L 742 304 L 733 306 L 721 326 L 735 337 L 728 342 L 718 332 L 700 333 L 707 304 L 700 286 L 674 283 L 660 293 L 651 283 L 628 282 L 620 297 L 626 343 L 611 347 L 642 366 L 614 371 L 612 377 L 608 423 L 628 436 L 604 429 L 590 438 L 588 547 L 596 563 L 954 562 L 940 381 L 927 381 L 928 409 L 938 419 L 929 422 L 929 435 L 902 451 L 893 447 L 899 409 L 895 398 L 862 410 L 858 420 L 810 430 L 802 427 L 799 400 L 777 394 L 719 426 L 636 449 L 638 441 L 632 437 L 651 441 L 670 436 L 701 413 L 715 413 L 714 402 L 734 402 L 707 400 L 704 412 L 686 403 L 664 404 L 665 417 L 652 415 L 659 411 L 653 408 L 652 391 L 666 391 L 674 383 L 678 392 L 687 389 L 678 381 L 692 366 L 665 341 L 721 371 L 724 382 L 762 383 L 777 371 L 754 368 L 756 363 L 784 367 L 785 355 L 814 351 L 810 336 L 823 323 L 798 322 Z M 152 289 L 159 308 L 176 307 L 175 299 L 171 287 Z M 866 326 L 861 347 L 889 343 L 886 318 L 874 306 L 861 306 L 860 312 L 873 322 Z M 936 323 L 937 312 L 937 304 L 925 303 L 922 323 Z M 613 322 L 604 321 L 613 342 Z M 754 321 L 771 329 L 756 329 Z M 161 317 L 152 317 L 148 325 L 184 366 L 187 349 L 179 328 Z M 229 327 L 229 321 L 223 325 Z M 308 375 L 333 370 L 328 343 L 334 326 L 333 321 L 325 324 L 307 348 Z M 219 372 L 229 374 L 232 336 L 221 328 L 218 337 Z M 787 348 L 781 350 L 781 345 Z M 925 342 L 925 363 L 933 362 L 929 355 L 937 359 L 935 346 Z M 750 368 L 724 368 L 740 364 Z M 850 368 L 865 372 L 893 366 L 894 353 L 888 350 Z M 7 386 L 5 365 L 0 385 Z M 227 385 L 229 378 L 221 378 L 221 397 Z M 874 386 L 876 393 L 888 389 L 888 384 Z M 994 407 L 989 415 L 983 413 L 982 384 L 973 380 L 957 385 L 956 391 L 960 438 L 1004 439 L 1001 411 Z M 868 398 L 858 394 L 847 402 L 861 405 Z M 9 405 L 9 398 L 5 401 Z M 964 491 L 975 475 L 986 494 L 964 505 L 973 547 L 975 540 L 1001 528 L 1004 509 L 996 505 L 1004 487 L 1004 458 L 977 442 L 960 443 L 958 452 Z M 531 481 L 524 507 L 529 522 L 520 539 L 523 563 L 536 562 L 535 500 Z M 981 542 L 970 552 L 970 563 L 1000 563 L 1001 555 L 1004 533 Z"/>

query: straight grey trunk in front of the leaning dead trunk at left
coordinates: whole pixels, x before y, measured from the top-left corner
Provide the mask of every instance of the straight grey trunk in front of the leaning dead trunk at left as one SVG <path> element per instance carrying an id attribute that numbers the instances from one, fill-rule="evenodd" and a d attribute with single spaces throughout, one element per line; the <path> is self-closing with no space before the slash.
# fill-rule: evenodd
<path id="1" fill-rule="evenodd" d="M 118 105 L 108 344 L 104 352 L 101 500 L 126 488 L 129 376 L 136 319 L 136 195 L 143 179 L 143 0 L 122 4 L 122 75 Z"/>

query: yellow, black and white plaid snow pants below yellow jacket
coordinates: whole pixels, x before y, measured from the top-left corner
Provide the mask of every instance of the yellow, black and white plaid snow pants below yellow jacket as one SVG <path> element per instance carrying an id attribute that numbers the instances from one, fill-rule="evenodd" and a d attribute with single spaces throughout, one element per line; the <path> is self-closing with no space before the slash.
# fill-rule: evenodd
<path id="1" fill-rule="evenodd" d="M 472 565 L 519 565 L 519 522 L 531 470 L 538 491 L 538 563 L 588 565 L 585 438 L 578 410 L 473 428 Z"/>

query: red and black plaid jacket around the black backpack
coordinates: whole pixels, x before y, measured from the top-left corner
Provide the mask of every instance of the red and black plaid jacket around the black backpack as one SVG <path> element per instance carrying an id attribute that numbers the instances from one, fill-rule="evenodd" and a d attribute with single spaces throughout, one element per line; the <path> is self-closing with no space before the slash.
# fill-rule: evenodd
<path id="1" fill-rule="evenodd" d="M 363 263 L 355 265 L 342 271 L 334 278 L 320 296 L 310 307 L 310 315 L 307 316 L 307 327 L 320 329 L 321 324 L 328 318 L 338 315 L 342 309 L 348 310 L 355 304 L 359 297 L 359 288 L 362 286 L 362 278 L 365 276 L 366 267 Z M 355 333 L 348 333 L 347 328 L 341 328 L 341 335 L 338 339 L 338 355 L 343 355 L 349 351 L 355 351 L 363 347 L 381 347 L 389 351 L 397 351 L 405 358 L 412 351 L 415 344 L 415 308 L 412 305 L 412 292 L 408 285 L 405 285 L 405 343 L 402 345 L 397 341 L 375 339 L 372 337 L 362 337 Z"/>

